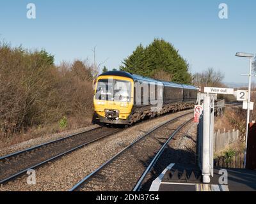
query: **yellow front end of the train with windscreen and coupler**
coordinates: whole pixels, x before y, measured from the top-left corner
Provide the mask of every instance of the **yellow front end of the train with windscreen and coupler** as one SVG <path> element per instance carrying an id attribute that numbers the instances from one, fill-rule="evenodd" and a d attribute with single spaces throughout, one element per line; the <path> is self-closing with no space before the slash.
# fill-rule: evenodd
<path id="1" fill-rule="evenodd" d="M 134 102 L 133 87 L 132 78 L 98 77 L 93 98 L 96 120 L 105 124 L 129 124 Z"/>

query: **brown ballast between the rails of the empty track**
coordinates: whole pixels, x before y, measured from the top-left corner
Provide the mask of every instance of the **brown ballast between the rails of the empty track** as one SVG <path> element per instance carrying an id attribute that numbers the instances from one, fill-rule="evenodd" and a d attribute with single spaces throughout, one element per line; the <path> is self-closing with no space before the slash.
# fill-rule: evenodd
<path id="1" fill-rule="evenodd" d="M 163 143 L 181 124 L 191 119 L 192 114 L 168 122 L 146 135 L 129 149 L 104 166 L 80 191 L 132 191 L 145 168 L 156 156 Z"/>

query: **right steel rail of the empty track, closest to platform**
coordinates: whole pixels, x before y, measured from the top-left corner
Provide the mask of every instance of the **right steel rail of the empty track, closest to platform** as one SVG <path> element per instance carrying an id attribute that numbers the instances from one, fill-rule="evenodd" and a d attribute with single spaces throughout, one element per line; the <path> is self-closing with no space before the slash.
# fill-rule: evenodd
<path id="1" fill-rule="evenodd" d="M 134 187 L 134 189 L 132 189 L 132 191 L 140 191 L 140 188 L 141 188 L 143 180 L 148 175 L 148 173 L 152 170 L 153 166 L 156 164 L 156 162 L 158 161 L 159 157 L 161 157 L 161 155 L 164 152 L 165 147 L 168 145 L 168 143 L 170 143 L 170 141 L 172 140 L 173 136 L 175 136 L 177 133 L 179 133 L 180 129 L 184 128 L 184 126 L 186 126 L 189 122 L 191 122 L 191 120 L 193 120 L 193 119 L 189 119 L 187 122 L 184 122 L 184 124 L 179 126 L 179 128 L 175 129 L 175 131 L 172 133 L 172 135 L 170 135 L 170 137 L 168 138 L 168 140 L 166 140 L 166 142 L 161 147 L 161 149 L 159 149 L 159 151 L 157 152 L 157 154 L 154 157 L 154 159 L 152 159 L 152 161 L 148 165 L 147 169 L 141 175 L 140 179 L 138 180 L 136 186 Z"/>

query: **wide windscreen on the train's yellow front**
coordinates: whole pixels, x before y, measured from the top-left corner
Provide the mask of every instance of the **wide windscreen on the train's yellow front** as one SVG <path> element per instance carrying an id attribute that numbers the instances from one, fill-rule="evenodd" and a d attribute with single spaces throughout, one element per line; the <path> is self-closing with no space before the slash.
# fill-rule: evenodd
<path id="1" fill-rule="evenodd" d="M 102 101 L 131 101 L 131 82 L 115 79 L 100 79 L 95 99 Z"/>

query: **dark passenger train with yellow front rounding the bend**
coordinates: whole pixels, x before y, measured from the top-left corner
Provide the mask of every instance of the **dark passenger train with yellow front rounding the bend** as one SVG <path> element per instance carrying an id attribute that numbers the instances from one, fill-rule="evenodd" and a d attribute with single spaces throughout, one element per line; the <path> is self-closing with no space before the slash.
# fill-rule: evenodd
<path id="1" fill-rule="evenodd" d="M 193 108 L 198 88 L 153 78 L 107 71 L 97 77 L 93 121 L 131 125 L 145 118 Z"/>

